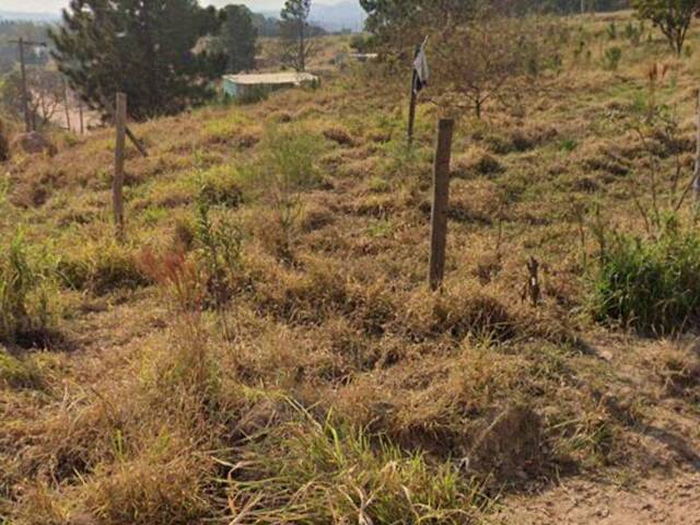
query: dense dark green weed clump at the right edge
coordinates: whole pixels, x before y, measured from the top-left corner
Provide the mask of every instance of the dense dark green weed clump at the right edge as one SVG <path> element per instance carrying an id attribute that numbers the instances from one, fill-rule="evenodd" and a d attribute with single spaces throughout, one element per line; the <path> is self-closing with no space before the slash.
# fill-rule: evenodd
<path id="1" fill-rule="evenodd" d="M 679 332 L 700 316 L 700 237 L 667 229 L 658 238 L 616 235 L 592 281 L 596 320 L 643 332 Z"/>

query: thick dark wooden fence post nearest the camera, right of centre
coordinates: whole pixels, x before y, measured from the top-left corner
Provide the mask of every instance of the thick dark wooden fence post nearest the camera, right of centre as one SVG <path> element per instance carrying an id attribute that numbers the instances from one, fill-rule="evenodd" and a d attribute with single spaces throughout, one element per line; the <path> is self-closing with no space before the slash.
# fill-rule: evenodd
<path id="1" fill-rule="evenodd" d="M 452 136 L 454 128 L 455 121 L 453 119 L 441 119 L 438 125 L 430 231 L 429 282 L 433 291 L 442 285 L 442 280 L 445 275 L 447 207 L 450 202 L 450 160 L 452 155 Z"/>

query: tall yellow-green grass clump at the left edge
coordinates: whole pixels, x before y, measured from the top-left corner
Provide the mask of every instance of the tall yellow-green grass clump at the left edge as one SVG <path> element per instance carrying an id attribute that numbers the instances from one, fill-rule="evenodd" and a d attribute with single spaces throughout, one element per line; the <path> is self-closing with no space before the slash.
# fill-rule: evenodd
<path id="1" fill-rule="evenodd" d="M 55 324 L 52 272 L 20 233 L 0 256 L 0 341 L 47 345 Z"/>

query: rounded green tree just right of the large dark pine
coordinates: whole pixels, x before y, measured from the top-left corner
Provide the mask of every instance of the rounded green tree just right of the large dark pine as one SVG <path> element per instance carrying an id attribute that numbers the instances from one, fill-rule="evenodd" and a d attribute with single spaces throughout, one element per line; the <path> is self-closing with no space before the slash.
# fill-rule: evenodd
<path id="1" fill-rule="evenodd" d="M 221 27 L 219 43 L 229 57 L 229 72 L 254 68 L 258 31 L 253 24 L 250 10 L 245 5 L 226 5 L 222 15 L 225 21 Z"/>

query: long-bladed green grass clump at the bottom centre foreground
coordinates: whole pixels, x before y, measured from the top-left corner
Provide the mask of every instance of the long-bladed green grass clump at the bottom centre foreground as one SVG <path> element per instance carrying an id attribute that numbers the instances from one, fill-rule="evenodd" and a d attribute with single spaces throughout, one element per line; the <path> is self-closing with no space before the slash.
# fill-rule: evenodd
<path id="1" fill-rule="evenodd" d="M 456 465 L 431 465 L 296 409 L 299 420 L 245 451 L 232 487 L 232 509 L 245 509 L 235 523 L 468 524 L 486 506 L 480 485 Z"/>

